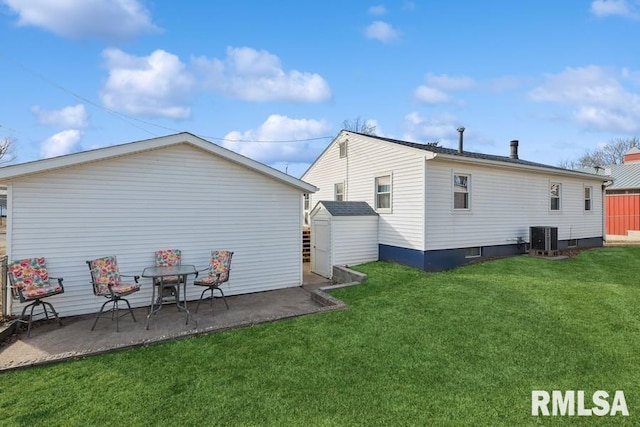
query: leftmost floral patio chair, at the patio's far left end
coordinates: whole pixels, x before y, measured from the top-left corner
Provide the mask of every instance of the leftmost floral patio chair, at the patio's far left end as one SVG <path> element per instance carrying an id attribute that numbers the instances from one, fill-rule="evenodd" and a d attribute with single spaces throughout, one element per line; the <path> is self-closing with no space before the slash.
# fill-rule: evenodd
<path id="1" fill-rule="evenodd" d="M 43 299 L 64 293 L 64 287 L 62 286 L 63 279 L 49 276 L 43 257 L 12 261 L 7 266 L 7 275 L 9 276 L 9 284 L 13 298 L 16 300 L 19 299 L 21 303 L 29 303 L 22 309 L 19 320 L 20 322 L 28 324 L 27 337 L 31 336 L 33 309 L 39 305 L 42 306 L 47 320 L 49 320 L 49 312 L 47 311 L 47 307 L 49 307 L 55 319 L 57 319 L 60 326 L 62 326 L 62 320 L 60 320 L 53 305 L 48 301 L 43 301 Z M 28 308 L 31 308 L 29 320 L 24 320 L 24 314 Z"/>

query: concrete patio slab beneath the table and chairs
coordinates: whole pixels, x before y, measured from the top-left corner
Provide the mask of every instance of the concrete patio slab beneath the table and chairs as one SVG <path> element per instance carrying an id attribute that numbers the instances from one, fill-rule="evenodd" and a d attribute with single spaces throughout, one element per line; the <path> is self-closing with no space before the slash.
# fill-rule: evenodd
<path id="1" fill-rule="evenodd" d="M 63 327 L 53 321 L 38 322 L 31 337 L 23 328 L 0 342 L 0 372 L 344 308 L 344 303 L 323 291 L 332 283 L 309 272 L 308 264 L 305 267 L 303 286 L 230 296 L 229 310 L 216 299 L 213 314 L 208 302 L 195 313 L 196 302 L 189 302 L 188 324 L 185 313 L 174 304 L 163 306 L 151 318 L 149 330 L 146 307 L 134 309 L 137 322 L 131 316 L 122 317 L 120 332 L 109 318 L 98 320 L 92 331 L 94 315 L 65 317 Z"/>

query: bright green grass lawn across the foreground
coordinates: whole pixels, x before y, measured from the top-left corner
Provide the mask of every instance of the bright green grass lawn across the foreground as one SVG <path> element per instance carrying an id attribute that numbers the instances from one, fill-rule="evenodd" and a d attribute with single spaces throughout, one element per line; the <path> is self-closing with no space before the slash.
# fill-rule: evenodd
<path id="1" fill-rule="evenodd" d="M 0 425 L 640 425 L 640 247 L 356 269 L 346 310 L 2 374 Z M 532 417 L 532 390 L 630 416 Z"/>

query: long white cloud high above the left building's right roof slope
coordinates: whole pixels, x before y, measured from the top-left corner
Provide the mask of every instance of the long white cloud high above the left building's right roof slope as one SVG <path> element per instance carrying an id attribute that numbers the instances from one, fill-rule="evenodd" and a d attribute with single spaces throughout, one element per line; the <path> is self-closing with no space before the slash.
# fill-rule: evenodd
<path id="1" fill-rule="evenodd" d="M 205 84 L 229 98 L 322 102 L 332 96 L 329 84 L 320 75 L 284 71 L 280 59 L 264 50 L 229 47 L 224 60 L 199 57 L 193 62 Z"/>

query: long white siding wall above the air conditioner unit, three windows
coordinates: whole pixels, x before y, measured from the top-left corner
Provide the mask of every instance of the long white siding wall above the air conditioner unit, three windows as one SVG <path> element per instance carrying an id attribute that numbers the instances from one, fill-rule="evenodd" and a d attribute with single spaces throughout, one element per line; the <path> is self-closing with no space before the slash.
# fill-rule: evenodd
<path id="1" fill-rule="evenodd" d="M 454 173 L 471 176 L 468 211 L 453 209 Z M 427 250 L 528 241 L 530 226 L 558 227 L 560 240 L 603 236 L 600 181 L 590 184 L 591 212 L 584 211 L 585 181 L 578 178 L 428 161 L 427 182 Z M 551 182 L 562 184 L 559 212 L 549 209 Z"/>

